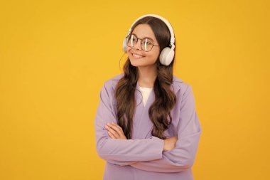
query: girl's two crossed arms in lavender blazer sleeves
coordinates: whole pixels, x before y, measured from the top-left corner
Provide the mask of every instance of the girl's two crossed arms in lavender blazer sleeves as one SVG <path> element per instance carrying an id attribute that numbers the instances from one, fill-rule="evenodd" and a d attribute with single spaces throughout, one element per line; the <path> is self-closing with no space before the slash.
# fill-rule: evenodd
<path id="1" fill-rule="evenodd" d="M 163 139 L 158 137 L 125 139 L 124 133 L 119 136 L 108 134 L 111 132 L 109 127 L 119 128 L 117 118 L 112 113 L 112 102 L 110 102 L 112 92 L 108 87 L 109 85 L 104 83 L 100 91 L 100 101 L 95 116 L 95 140 L 99 157 L 112 164 L 130 165 L 145 171 L 178 172 L 193 166 L 201 128 L 190 85 L 185 90 L 181 102 L 178 141 L 175 148 L 170 151 L 163 151 Z M 114 125 L 105 127 L 108 122 L 114 122 Z"/>

